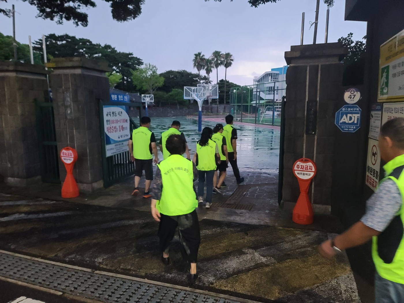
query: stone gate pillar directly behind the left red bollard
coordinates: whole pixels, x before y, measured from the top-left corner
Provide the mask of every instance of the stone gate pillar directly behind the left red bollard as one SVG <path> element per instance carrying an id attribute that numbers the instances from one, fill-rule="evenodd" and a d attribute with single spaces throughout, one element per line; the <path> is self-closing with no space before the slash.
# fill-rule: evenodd
<path id="1" fill-rule="evenodd" d="M 86 58 L 54 58 L 50 87 L 53 93 L 57 147 L 77 150 L 74 178 L 84 191 L 103 186 L 99 102 L 109 101 L 107 63 Z M 59 161 L 63 182 L 66 169 Z"/>

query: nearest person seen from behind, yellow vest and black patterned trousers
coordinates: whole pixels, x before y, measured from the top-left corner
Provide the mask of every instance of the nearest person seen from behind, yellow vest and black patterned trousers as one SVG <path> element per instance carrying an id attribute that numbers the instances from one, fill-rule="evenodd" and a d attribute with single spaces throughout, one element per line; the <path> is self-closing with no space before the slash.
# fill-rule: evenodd
<path id="1" fill-rule="evenodd" d="M 170 263 L 169 245 L 178 227 L 181 254 L 191 265 L 188 283 L 198 278 L 196 261 L 200 244 L 200 230 L 196 208 L 194 181 L 198 170 L 194 162 L 183 157 L 185 140 L 181 135 L 171 135 L 166 141 L 170 156 L 157 164 L 156 180 L 153 183 L 151 215 L 160 222 L 158 236 L 162 262 Z"/>

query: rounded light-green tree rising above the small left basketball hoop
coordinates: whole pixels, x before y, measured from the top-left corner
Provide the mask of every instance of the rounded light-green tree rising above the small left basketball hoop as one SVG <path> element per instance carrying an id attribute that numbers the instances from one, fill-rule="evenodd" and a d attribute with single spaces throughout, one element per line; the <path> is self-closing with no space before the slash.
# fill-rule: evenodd
<path id="1" fill-rule="evenodd" d="M 133 84 L 147 90 L 149 94 L 153 94 L 164 83 L 164 78 L 157 73 L 157 66 L 150 63 L 132 71 L 132 75 Z"/>

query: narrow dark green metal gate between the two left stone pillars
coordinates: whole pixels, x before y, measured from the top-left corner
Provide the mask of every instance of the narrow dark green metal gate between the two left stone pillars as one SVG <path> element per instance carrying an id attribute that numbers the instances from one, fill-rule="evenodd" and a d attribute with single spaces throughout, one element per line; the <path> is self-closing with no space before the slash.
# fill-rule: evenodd
<path id="1" fill-rule="evenodd" d="M 35 102 L 42 182 L 60 183 L 53 103 Z"/>

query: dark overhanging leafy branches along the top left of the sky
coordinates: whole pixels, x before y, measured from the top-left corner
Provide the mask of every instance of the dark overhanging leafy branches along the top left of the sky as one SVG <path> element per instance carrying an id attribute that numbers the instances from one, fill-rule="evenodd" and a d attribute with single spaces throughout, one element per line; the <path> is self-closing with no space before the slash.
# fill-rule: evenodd
<path id="1" fill-rule="evenodd" d="M 0 0 L 7 2 L 7 0 Z M 84 13 L 90 7 L 96 7 L 93 0 L 21 0 L 38 8 L 38 15 L 42 19 L 55 20 L 58 24 L 72 21 L 76 26 L 88 25 L 88 15 Z M 98 0 L 101 1 L 101 0 Z M 145 0 L 103 0 L 110 3 L 112 18 L 119 22 L 133 20 L 142 12 L 141 6 Z M 11 10 L 0 7 L 0 13 L 10 17 Z"/>

